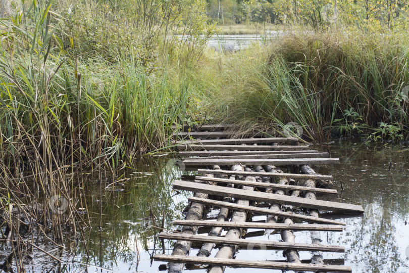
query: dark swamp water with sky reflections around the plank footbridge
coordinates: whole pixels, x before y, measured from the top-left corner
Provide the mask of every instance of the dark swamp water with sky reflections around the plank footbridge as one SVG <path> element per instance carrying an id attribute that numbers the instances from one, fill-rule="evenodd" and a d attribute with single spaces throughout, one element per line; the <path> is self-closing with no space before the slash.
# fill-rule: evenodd
<path id="1" fill-rule="evenodd" d="M 321 147 L 331 150 L 332 157 L 339 157 L 340 164 L 314 166 L 318 173 L 332 174 L 337 197 L 332 201 L 361 204 L 362 217 L 339 218 L 347 223 L 342 233 L 321 232 L 322 244 L 345 246 L 345 253 L 324 253 L 324 259 L 344 259 L 353 272 L 409 272 L 409 147 L 367 147 L 361 143 L 332 143 Z M 319 148 L 320 149 L 320 148 Z M 388 172 L 389 161 L 392 168 Z M 89 258 L 81 242 L 67 244 L 61 250 L 51 244 L 41 247 L 63 260 L 56 264 L 46 254 L 34 252 L 34 259 L 26 264 L 28 272 L 165 272 L 160 270 L 164 262 L 151 261 L 155 253 L 170 254 L 172 242 L 165 242 L 156 235 L 162 225 L 165 210 L 165 229 L 175 230 L 173 219 L 182 219 L 187 197 L 191 193 L 178 194 L 172 190 L 173 180 L 182 172 L 169 167 L 168 159 L 141 162 L 137 170 L 128 172 L 121 183 L 103 191 L 103 227 L 99 222 L 99 185 L 91 174 L 83 174 L 88 180 L 87 203 L 92 228 L 84 230 Z M 194 172 L 184 172 L 193 174 Z M 341 194 L 339 181 L 343 181 Z M 104 188 L 110 183 L 104 184 Z M 215 214 L 215 212 L 213 213 Z M 217 215 L 217 213 L 216 213 Z M 212 215 L 208 215 L 212 216 Z M 256 216 L 256 220 L 265 216 Z M 254 231 L 254 230 L 251 230 Z M 263 239 L 255 237 L 252 239 Z M 279 240 L 279 235 L 269 240 Z M 309 232 L 295 233 L 298 243 L 311 243 Z M 0 251 L 7 246 L 0 244 Z M 193 249 L 191 255 L 195 255 Z M 214 250 L 213 255 L 216 253 Z M 301 259 L 310 259 L 311 253 L 300 252 Z M 283 260 L 282 251 L 242 249 L 237 259 Z M 267 269 L 226 268 L 226 272 L 262 272 Z M 194 270 L 206 272 L 206 269 Z M 269 270 L 271 271 L 271 270 Z M 274 271 L 274 270 L 273 270 Z M 280 271 L 277 271 L 280 272 Z"/>

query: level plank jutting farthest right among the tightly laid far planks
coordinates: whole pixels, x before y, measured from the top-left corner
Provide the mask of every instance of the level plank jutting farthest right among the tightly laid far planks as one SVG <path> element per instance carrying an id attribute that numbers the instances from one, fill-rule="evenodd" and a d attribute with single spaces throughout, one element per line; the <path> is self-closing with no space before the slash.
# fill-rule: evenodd
<path id="1" fill-rule="evenodd" d="M 339 164 L 339 158 L 185 159 L 186 166 Z"/>

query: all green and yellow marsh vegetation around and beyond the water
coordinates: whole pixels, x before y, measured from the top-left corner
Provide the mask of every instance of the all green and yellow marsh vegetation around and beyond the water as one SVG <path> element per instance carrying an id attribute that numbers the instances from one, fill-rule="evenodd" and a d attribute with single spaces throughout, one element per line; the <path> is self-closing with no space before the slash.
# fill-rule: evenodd
<path id="1" fill-rule="evenodd" d="M 170 151 L 175 124 L 211 119 L 232 123 L 238 132 L 280 134 L 295 122 L 301 137 L 311 142 L 343 136 L 367 144 L 407 141 L 404 1 L 332 6 L 310 0 L 39 0 L 2 5 L 0 240 L 9 243 L 5 268 L 23 272 L 33 251 L 40 251 L 38 244 L 77 242 L 82 255 L 95 256 L 87 232 L 90 227 L 104 231 L 103 210 L 113 207 L 103 203 L 122 200 L 115 190 L 122 189 L 129 173 L 140 172 L 141 157 Z M 365 9 L 359 9 L 362 5 Z M 278 32 L 272 35 L 272 30 Z M 208 47 L 210 38 L 223 43 L 223 35 L 231 33 L 258 38 L 233 52 Z M 152 168 L 155 164 L 149 161 Z M 130 218 L 158 218 L 168 207 L 176 211 L 169 185 L 160 181 L 132 184 L 140 190 L 133 198 L 152 189 L 162 189 L 163 196 L 144 205 L 130 200 L 127 204 L 140 206 L 140 215 Z M 93 198 L 89 188 L 96 190 Z M 148 202 L 167 205 L 149 207 Z M 148 231 L 146 238 L 155 233 Z M 59 261 L 54 254 L 44 255 Z"/>

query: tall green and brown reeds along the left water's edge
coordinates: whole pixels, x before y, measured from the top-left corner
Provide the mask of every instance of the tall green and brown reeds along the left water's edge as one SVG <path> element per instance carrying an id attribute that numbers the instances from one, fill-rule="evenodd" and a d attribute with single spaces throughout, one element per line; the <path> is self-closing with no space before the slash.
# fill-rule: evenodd
<path id="1" fill-rule="evenodd" d="M 169 145 L 193 92 L 183 72 L 170 77 L 166 57 L 154 73 L 135 58 L 71 55 L 51 5 L 23 5 L 0 21 L 0 230 L 15 244 L 9 257 L 18 272 L 39 237 L 58 247 L 85 240 L 78 171 L 114 180 L 135 157 Z"/>

